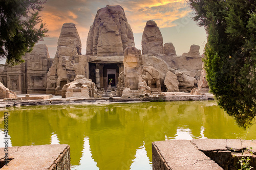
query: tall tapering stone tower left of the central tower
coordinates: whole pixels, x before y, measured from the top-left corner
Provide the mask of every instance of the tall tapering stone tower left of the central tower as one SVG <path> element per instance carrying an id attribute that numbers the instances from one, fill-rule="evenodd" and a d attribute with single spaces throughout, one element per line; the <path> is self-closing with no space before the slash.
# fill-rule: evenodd
<path id="1" fill-rule="evenodd" d="M 61 95 L 63 85 L 74 80 L 80 54 L 81 40 L 75 24 L 64 23 L 53 64 L 47 74 L 47 94 Z M 85 75 L 86 72 L 83 74 Z"/>

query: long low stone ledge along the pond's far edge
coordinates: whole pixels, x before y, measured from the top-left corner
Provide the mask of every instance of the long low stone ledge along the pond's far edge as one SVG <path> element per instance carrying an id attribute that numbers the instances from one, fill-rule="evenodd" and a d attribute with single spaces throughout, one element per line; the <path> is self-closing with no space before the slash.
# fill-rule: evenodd
<path id="1" fill-rule="evenodd" d="M 49 99 L 50 98 L 50 99 Z M 212 94 L 191 95 L 184 92 L 162 92 L 153 96 L 134 98 L 120 98 L 114 96 L 110 98 L 61 98 L 60 95 L 52 94 L 19 94 L 16 99 L 0 100 L 0 108 L 18 107 L 18 106 L 35 106 L 35 105 L 84 105 L 84 104 L 108 104 L 108 103 L 137 103 L 137 102 L 164 102 L 164 101 L 200 101 L 214 100 Z"/>

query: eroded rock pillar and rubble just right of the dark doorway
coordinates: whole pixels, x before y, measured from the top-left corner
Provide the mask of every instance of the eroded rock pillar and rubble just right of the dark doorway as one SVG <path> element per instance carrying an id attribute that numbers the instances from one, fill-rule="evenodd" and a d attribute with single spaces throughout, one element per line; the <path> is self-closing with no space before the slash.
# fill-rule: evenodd
<path id="1" fill-rule="evenodd" d="M 124 71 L 119 75 L 118 94 L 122 98 L 150 96 L 160 94 L 159 71 L 153 65 L 143 65 L 141 51 L 136 47 L 127 47 L 124 51 Z"/>

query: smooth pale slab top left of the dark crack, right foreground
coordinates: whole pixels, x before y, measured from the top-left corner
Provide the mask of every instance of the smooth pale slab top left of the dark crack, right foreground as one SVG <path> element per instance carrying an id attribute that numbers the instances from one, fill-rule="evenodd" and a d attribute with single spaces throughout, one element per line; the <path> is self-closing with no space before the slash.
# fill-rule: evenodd
<path id="1" fill-rule="evenodd" d="M 153 147 L 161 154 L 169 169 L 222 169 L 189 140 L 156 141 Z M 157 168 L 153 165 L 154 169 Z"/>

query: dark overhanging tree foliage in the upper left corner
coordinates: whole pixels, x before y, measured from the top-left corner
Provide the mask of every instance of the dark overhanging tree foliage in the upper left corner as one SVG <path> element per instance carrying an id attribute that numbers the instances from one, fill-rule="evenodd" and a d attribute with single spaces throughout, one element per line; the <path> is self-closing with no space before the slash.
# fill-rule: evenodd
<path id="1" fill-rule="evenodd" d="M 7 58 L 7 63 L 23 62 L 22 56 L 46 36 L 46 23 L 38 15 L 45 2 L 0 0 L 0 58 Z"/>

